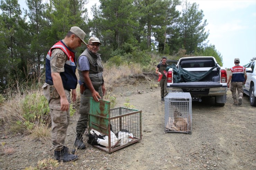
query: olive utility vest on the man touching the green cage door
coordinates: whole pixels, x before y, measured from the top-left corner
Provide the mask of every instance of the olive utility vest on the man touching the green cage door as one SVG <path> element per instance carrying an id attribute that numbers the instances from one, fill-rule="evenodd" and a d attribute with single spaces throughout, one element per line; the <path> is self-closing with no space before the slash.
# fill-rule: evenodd
<path id="1" fill-rule="evenodd" d="M 88 49 L 84 50 L 84 52 L 79 56 L 79 58 L 81 56 L 86 56 L 88 58 L 89 64 L 90 64 L 90 70 L 89 70 L 89 77 L 90 80 L 92 82 L 92 86 L 94 87 L 94 89 L 99 89 L 99 87 L 102 85 L 103 82 L 103 65 L 102 65 L 102 61 L 100 58 L 100 54 L 94 54 L 92 52 L 90 52 Z M 79 74 L 79 79 L 84 82 L 84 77 L 83 77 L 83 73 L 80 69 L 80 64 L 79 64 L 79 58 L 77 60 L 77 70 L 78 70 L 78 74 Z M 86 84 L 85 84 L 86 86 Z"/>

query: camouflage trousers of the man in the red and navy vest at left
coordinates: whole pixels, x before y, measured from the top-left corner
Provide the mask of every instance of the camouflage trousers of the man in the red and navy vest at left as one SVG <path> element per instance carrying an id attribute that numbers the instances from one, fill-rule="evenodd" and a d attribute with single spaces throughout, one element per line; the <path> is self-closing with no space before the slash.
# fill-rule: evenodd
<path id="1" fill-rule="evenodd" d="M 70 120 L 70 110 L 62 111 L 61 110 L 61 98 L 58 97 L 54 99 L 50 96 L 49 84 L 45 83 L 43 86 L 44 95 L 49 103 L 51 120 L 52 120 L 52 143 L 56 151 L 60 151 L 65 143 L 65 138 L 67 134 L 67 127 Z M 69 103 L 70 100 L 70 91 L 64 89 L 66 93 L 66 98 Z"/>

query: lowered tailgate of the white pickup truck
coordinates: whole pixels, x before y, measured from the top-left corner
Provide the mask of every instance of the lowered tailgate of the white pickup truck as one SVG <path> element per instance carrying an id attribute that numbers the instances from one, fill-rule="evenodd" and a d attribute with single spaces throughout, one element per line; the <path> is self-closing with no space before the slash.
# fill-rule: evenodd
<path id="1" fill-rule="evenodd" d="M 181 82 L 170 84 L 173 88 L 218 88 L 222 87 L 219 82 L 195 81 L 195 82 Z"/>

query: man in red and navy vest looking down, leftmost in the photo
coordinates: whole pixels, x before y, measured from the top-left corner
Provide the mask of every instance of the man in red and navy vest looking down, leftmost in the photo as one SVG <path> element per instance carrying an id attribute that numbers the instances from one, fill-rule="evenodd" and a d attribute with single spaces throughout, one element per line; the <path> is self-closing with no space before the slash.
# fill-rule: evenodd
<path id="1" fill-rule="evenodd" d="M 70 91 L 72 101 L 76 100 L 77 78 L 74 50 L 84 43 L 85 33 L 79 27 L 72 27 L 63 40 L 49 50 L 45 64 L 44 95 L 49 103 L 52 120 L 52 143 L 58 161 L 75 161 L 75 149 L 70 152 L 64 146 L 70 120 Z"/>

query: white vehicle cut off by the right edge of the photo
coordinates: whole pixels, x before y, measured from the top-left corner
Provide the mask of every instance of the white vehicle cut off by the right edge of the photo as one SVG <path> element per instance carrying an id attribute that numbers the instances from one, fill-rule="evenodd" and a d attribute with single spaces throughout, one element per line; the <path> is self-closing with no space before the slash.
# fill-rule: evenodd
<path id="1" fill-rule="evenodd" d="M 247 72 L 247 80 L 244 85 L 244 93 L 250 97 L 250 105 L 256 106 L 256 60 L 250 62 L 245 68 Z"/>

